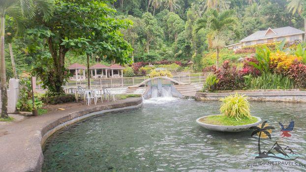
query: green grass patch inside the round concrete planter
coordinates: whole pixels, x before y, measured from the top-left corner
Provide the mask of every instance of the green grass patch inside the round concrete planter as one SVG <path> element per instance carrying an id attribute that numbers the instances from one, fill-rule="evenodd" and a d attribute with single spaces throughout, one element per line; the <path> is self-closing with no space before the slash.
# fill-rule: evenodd
<path id="1" fill-rule="evenodd" d="M 229 118 L 225 115 L 214 115 L 205 118 L 201 118 L 200 122 L 212 124 L 212 125 L 228 125 L 228 126 L 237 126 L 237 125 L 246 125 L 257 122 L 258 119 L 254 116 L 251 118 L 243 118 L 242 120 L 237 121 L 235 118 Z"/>

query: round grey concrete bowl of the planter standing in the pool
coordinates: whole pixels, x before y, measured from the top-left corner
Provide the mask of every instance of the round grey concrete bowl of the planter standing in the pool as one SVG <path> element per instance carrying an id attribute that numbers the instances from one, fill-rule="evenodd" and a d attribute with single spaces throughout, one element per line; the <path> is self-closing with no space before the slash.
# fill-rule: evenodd
<path id="1" fill-rule="evenodd" d="M 214 116 L 214 115 L 208 115 L 208 116 Z M 208 116 L 202 116 L 202 117 L 199 117 L 197 118 L 197 123 L 208 129 L 208 130 L 212 130 L 212 131 L 222 131 L 222 132 L 242 132 L 242 131 L 246 131 L 248 130 L 250 127 L 252 126 L 257 126 L 259 125 L 259 123 L 261 122 L 261 118 L 260 117 L 257 117 L 257 116 L 254 116 L 258 119 L 257 122 L 255 123 L 252 123 L 252 124 L 247 124 L 247 125 L 237 125 L 237 126 L 227 126 L 227 125 L 212 125 L 212 124 L 206 124 L 206 123 L 203 123 L 203 122 L 200 122 L 200 119 L 202 118 L 206 118 Z"/>

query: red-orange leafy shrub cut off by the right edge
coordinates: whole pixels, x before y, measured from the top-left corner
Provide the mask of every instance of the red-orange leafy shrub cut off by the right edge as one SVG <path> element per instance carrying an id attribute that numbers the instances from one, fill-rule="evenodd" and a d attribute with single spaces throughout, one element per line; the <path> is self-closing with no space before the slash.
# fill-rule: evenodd
<path id="1" fill-rule="evenodd" d="M 297 88 L 306 87 L 306 65 L 295 61 L 288 71 L 285 73 L 289 78 L 293 79 Z"/>

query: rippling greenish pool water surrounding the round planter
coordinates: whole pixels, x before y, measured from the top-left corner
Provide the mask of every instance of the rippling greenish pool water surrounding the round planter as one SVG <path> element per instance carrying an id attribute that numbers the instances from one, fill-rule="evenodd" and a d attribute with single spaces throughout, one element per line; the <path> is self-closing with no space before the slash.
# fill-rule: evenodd
<path id="1" fill-rule="evenodd" d="M 220 133 L 198 126 L 198 117 L 219 114 L 217 101 L 166 98 L 145 100 L 135 110 L 95 115 L 56 132 L 43 147 L 42 171 L 305 171 L 305 104 L 251 105 L 252 115 L 275 127 L 272 139 L 261 139 L 261 150 L 270 150 L 275 142 L 289 145 L 296 160 L 255 159 L 258 138 L 250 137 L 251 131 Z M 291 119 L 291 136 L 282 137 L 278 122 L 286 128 Z"/>

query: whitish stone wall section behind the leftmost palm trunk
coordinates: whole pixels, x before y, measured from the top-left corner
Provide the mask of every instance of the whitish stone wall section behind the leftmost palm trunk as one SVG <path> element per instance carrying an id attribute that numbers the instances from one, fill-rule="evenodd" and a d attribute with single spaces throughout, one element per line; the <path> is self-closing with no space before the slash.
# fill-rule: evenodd
<path id="1" fill-rule="evenodd" d="M 1 92 L 0 92 L 1 97 Z M 11 78 L 8 82 L 7 89 L 7 112 L 14 113 L 16 111 L 16 104 L 19 97 L 19 80 Z M 0 112 L 1 112 L 2 102 L 0 99 Z"/>

